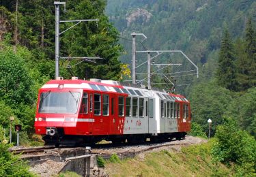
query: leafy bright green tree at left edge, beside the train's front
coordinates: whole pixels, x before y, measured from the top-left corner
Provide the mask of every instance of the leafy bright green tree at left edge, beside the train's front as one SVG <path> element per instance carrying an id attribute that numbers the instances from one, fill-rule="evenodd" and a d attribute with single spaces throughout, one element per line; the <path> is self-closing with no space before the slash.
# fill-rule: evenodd
<path id="1" fill-rule="evenodd" d="M 0 97 L 12 108 L 19 103 L 33 103 L 32 79 L 25 60 L 10 48 L 0 52 Z"/>

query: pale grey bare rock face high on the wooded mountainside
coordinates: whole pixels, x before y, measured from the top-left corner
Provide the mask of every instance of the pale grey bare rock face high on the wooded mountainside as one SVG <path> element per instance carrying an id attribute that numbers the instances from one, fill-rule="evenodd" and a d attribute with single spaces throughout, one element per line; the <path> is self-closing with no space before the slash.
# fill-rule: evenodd
<path id="1" fill-rule="evenodd" d="M 148 22 L 150 18 L 152 17 L 152 14 L 148 12 L 147 10 L 137 8 L 137 10 L 134 10 L 126 17 L 127 20 L 127 26 L 130 26 L 131 22 L 136 21 L 138 18 L 142 19 L 142 23 Z"/>

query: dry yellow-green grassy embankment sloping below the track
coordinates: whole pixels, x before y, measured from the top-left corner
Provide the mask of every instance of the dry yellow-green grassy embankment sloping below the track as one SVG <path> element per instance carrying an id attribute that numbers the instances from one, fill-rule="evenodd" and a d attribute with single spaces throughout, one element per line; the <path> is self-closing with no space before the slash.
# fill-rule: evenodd
<path id="1" fill-rule="evenodd" d="M 225 165 L 215 165 L 210 158 L 211 142 L 182 148 L 181 152 L 162 150 L 145 157 L 106 163 L 109 176 L 232 176 Z"/>

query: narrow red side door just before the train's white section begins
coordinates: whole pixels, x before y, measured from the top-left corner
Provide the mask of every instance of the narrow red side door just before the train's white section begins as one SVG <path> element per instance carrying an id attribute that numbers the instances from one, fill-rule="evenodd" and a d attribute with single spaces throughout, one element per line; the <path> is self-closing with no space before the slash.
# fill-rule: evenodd
<path id="1" fill-rule="evenodd" d="M 115 134 L 115 95 L 109 94 L 109 134 Z"/>

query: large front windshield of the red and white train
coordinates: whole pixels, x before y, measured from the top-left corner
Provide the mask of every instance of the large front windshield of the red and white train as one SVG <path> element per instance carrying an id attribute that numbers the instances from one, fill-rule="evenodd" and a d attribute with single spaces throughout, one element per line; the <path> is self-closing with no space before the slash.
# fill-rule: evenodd
<path id="1" fill-rule="evenodd" d="M 39 113 L 76 114 L 80 93 L 76 92 L 44 92 L 40 95 Z"/>

